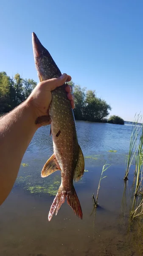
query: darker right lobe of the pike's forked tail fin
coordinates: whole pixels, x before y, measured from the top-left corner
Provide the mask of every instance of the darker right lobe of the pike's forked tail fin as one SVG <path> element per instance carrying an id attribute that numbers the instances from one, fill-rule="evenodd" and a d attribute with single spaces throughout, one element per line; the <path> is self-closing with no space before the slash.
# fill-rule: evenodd
<path id="1" fill-rule="evenodd" d="M 70 207 L 72 207 L 76 216 L 78 216 L 82 220 L 81 204 L 79 202 L 79 198 L 76 194 L 76 190 L 75 190 L 74 186 L 73 186 L 71 192 L 67 193 L 67 204 L 69 204 Z"/>

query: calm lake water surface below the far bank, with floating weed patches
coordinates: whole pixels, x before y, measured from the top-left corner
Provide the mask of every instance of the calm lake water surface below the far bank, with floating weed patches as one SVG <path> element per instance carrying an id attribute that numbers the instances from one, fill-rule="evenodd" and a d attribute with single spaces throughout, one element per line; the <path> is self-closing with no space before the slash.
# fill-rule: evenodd
<path id="1" fill-rule="evenodd" d="M 74 184 L 83 220 L 65 202 L 48 222 L 51 195 L 61 178 L 60 172 L 47 178 L 40 176 L 53 154 L 50 127 L 42 127 L 23 157 L 22 163 L 27 165 L 20 167 L 14 188 L 0 207 L 0 256 L 142 255 L 141 224 L 134 222 L 133 227 L 128 218 L 133 167 L 128 183 L 123 181 L 132 126 L 81 121 L 76 125 L 88 170 Z M 112 166 L 106 171 L 107 178 L 101 180 L 100 207 L 93 211 L 92 195 L 106 162 Z"/>

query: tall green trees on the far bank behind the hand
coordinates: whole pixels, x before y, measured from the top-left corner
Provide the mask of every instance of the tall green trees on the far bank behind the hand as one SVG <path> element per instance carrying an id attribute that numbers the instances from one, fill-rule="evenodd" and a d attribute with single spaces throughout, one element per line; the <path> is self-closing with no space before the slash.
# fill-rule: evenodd
<path id="1" fill-rule="evenodd" d="M 97 97 L 95 90 L 86 90 L 70 81 L 75 96 L 74 115 L 77 120 L 104 122 L 109 115 L 111 106 Z M 33 79 L 23 79 L 20 74 L 13 78 L 6 72 L 0 72 L 0 112 L 11 111 L 30 95 L 36 82 Z"/>

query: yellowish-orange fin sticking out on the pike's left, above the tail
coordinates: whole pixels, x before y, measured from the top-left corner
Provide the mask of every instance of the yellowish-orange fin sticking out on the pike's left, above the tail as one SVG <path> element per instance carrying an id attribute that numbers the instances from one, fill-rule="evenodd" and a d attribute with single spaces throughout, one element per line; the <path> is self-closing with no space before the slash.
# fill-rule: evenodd
<path id="1" fill-rule="evenodd" d="M 53 172 L 56 172 L 58 170 L 61 170 L 59 167 L 59 164 L 56 160 L 56 157 L 54 154 L 48 159 L 48 161 L 45 163 L 42 172 L 41 172 L 41 177 L 47 177 Z"/>

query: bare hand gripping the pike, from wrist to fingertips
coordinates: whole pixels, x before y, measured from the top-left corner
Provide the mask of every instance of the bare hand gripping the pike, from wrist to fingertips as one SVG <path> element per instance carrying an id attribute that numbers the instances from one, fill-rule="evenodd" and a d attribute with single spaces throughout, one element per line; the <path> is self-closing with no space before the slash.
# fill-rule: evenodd
<path id="1" fill-rule="evenodd" d="M 66 81 L 69 82 L 70 80 L 71 76 L 63 74 L 59 78 L 42 81 L 36 85 L 31 95 L 27 99 L 29 104 L 32 106 L 35 119 L 40 116 L 48 116 L 48 108 L 52 100 L 51 91 L 56 89 L 56 87 L 63 85 Z M 74 96 L 71 93 L 70 85 L 67 84 L 65 90 L 67 92 L 67 98 L 70 100 L 71 107 L 75 108 Z M 41 123 L 41 125 L 43 124 Z"/>

